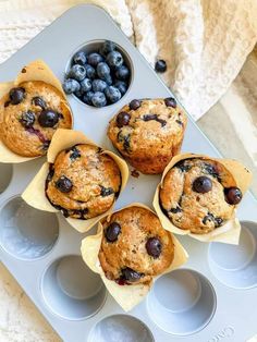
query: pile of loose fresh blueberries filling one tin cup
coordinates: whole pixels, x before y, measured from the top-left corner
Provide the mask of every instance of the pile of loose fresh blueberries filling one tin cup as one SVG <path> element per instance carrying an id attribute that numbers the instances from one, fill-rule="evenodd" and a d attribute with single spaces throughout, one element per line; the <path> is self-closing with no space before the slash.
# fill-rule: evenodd
<path id="1" fill-rule="evenodd" d="M 81 101 L 94 107 L 118 102 L 126 93 L 131 70 L 127 58 L 110 40 L 93 44 L 77 51 L 71 61 L 63 82 L 66 94 L 74 94 Z"/>

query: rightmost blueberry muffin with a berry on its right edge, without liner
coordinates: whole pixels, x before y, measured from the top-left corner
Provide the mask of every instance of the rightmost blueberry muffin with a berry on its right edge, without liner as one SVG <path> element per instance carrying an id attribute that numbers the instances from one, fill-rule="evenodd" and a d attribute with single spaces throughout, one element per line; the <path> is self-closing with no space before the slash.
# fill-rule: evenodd
<path id="1" fill-rule="evenodd" d="M 160 205 L 171 222 L 195 234 L 225 223 L 241 199 L 232 174 L 222 163 L 205 158 L 178 162 L 160 188 Z"/>

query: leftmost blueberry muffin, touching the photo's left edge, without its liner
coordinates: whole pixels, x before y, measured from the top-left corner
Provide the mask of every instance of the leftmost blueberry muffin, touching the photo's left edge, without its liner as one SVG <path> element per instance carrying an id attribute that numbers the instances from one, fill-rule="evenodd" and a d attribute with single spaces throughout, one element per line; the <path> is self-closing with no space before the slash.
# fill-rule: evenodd
<path id="1" fill-rule="evenodd" d="M 72 114 L 63 95 L 52 85 L 30 81 L 0 99 L 0 138 L 23 157 L 46 155 L 57 129 L 71 129 Z"/>

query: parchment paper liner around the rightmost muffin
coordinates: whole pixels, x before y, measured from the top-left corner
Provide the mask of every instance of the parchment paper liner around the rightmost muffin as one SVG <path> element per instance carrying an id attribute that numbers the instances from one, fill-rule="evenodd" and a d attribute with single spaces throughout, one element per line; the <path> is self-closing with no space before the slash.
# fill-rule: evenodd
<path id="1" fill-rule="evenodd" d="M 210 160 L 217 160 L 221 164 L 225 167 L 228 171 L 231 172 L 231 174 L 234 176 L 234 180 L 236 182 L 236 185 L 241 188 L 242 193 L 244 194 L 250 183 L 252 180 L 252 173 L 238 161 L 232 160 L 232 159 L 221 159 L 221 158 L 212 158 L 205 155 L 195 155 L 195 154 L 181 154 L 171 159 L 169 164 L 166 167 L 161 182 L 158 184 L 155 197 L 154 197 L 154 207 L 156 209 L 156 212 L 164 227 L 168 231 L 180 234 L 180 235 L 189 235 L 198 241 L 201 242 L 223 242 L 228 244 L 238 244 L 240 240 L 240 233 L 241 233 L 241 225 L 238 219 L 235 217 L 236 210 L 234 210 L 234 215 L 231 217 L 231 219 L 224 223 L 223 225 L 215 229 L 212 232 L 207 234 L 194 234 L 191 233 L 189 230 L 183 230 L 178 227 L 175 227 L 169 218 L 163 213 L 163 211 L 160 208 L 159 204 L 159 192 L 162 184 L 162 181 L 168 173 L 168 171 L 180 160 L 188 159 L 188 158 L 204 158 L 204 159 L 210 159 Z"/>

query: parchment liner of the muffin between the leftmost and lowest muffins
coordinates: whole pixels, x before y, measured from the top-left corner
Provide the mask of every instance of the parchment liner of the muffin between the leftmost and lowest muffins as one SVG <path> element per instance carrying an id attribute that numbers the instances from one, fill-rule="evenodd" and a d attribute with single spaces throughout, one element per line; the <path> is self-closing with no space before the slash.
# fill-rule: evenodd
<path id="1" fill-rule="evenodd" d="M 51 144 L 49 146 L 47 152 L 47 160 L 35 175 L 33 181 L 28 184 L 27 188 L 22 194 L 22 198 L 29 204 L 32 207 L 37 208 L 39 210 L 50 211 L 50 212 L 59 212 L 48 200 L 45 193 L 45 184 L 46 179 L 49 172 L 49 164 L 53 163 L 57 155 L 69 147 L 72 147 L 76 144 L 90 144 L 97 146 L 94 142 L 87 138 L 82 132 L 72 131 L 72 130 L 63 130 L 59 129 L 54 133 Z M 119 166 L 122 176 L 121 192 L 124 190 L 127 179 L 128 179 L 128 169 L 126 162 L 114 155 L 111 151 L 103 150 L 102 154 L 109 155 Z M 113 204 L 114 206 L 114 204 Z M 101 218 L 107 216 L 112 211 L 113 206 L 102 215 L 99 215 L 95 218 L 88 220 L 73 219 L 66 218 L 68 222 L 75 228 L 78 232 L 84 233 L 88 231 L 93 225 L 95 225 Z"/>

